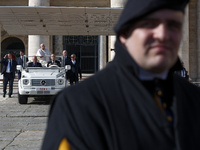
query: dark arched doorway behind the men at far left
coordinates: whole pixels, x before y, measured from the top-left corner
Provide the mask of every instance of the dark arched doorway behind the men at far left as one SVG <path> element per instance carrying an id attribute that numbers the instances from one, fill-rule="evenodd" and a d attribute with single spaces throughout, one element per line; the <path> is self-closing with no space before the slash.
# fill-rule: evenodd
<path id="1" fill-rule="evenodd" d="M 4 57 L 5 54 L 11 53 L 16 57 L 19 57 L 19 51 L 24 50 L 24 43 L 22 40 L 16 37 L 9 37 L 2 41 L 1 43 L 1 57 Z"/>

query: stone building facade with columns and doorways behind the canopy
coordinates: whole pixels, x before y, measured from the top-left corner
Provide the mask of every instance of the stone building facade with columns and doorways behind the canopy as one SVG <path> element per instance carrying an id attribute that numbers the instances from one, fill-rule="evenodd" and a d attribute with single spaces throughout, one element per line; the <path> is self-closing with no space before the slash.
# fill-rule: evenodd
<path id="1" fill-rule="evenodd" d="M 123 7 L 125 0 L 1 0 L 0 6 L 56 6 L 56 7 Z M 200 82 L 200 0 L 190 0 L 185 15 L 183 40 L 179 56 L 184 62 L 192 82 Z M 35 55 L 40 43 L 52 53 L 75 53 L 83 73 L 95 73 L 114 57 L 115 36 L 102 35 L 20 35 L 10 36 L 1 28 L 1 57 L 7 52 Z"/>

